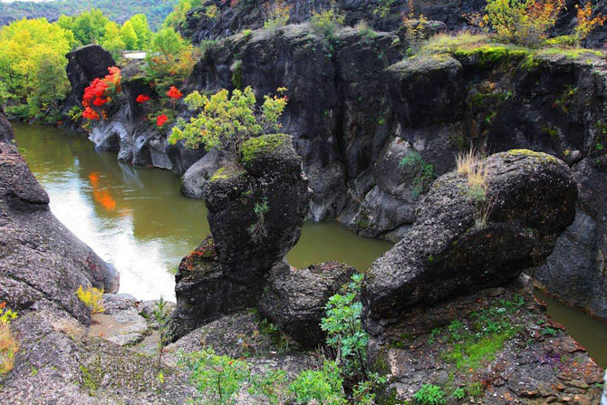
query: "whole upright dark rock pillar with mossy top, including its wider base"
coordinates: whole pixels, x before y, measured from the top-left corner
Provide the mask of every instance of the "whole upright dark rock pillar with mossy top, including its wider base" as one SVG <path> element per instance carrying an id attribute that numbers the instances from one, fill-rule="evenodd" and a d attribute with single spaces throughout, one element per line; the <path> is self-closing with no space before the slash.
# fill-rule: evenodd
<path id="1" fill-rule="evenodd" d="M 289 136 L 263 135 L 246 140 L 237 166 L 226 163 L 210 178 L 212 238 L 179 265 L 174 338 L 254 307 L 270 273 L 287 266 L 310 201 L 301 165 Z"/>

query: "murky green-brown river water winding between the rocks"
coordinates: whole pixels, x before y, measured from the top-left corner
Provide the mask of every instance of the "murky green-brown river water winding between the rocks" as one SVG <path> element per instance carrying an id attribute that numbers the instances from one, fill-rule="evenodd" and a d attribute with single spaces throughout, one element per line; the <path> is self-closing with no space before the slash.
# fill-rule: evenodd
<path id="1" fill-rule="evenodd" d="M 22 123 L 14 123 L 14 132 L 51 198 L 53 214 L 116 266 L 120 293 L 174 301 L 171 271 L 209 232 L 203 201 L 181 196 L 179 178 L 169 170 L 120 163 L 114 153 L 95 151 L 80 133 Z M 306 222 L 287 260 L 297 267 L 337 260 L 364 270 L 390 246 L 336 222 Z M 554 319 L 606 367 L 607 325 L 539 296 Z"/>

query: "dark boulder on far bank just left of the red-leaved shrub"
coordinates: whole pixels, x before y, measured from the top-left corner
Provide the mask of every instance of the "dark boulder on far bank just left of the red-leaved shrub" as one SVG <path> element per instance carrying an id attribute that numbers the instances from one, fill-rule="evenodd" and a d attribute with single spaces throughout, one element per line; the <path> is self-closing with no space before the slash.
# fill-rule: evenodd
<path id="1" fill-rule="evenodd" d="M 93 79 L 104 77 L 108 68 L 115 66 L 116 62 L 111 54 L 100 45 L 90 44 L 82 46 L 65 55 L 67 63 L 67 78 L 72 84 L 72 92 L 64 102 L 65 111 L 73 106 L 80 105 L 84 89 Z"/>

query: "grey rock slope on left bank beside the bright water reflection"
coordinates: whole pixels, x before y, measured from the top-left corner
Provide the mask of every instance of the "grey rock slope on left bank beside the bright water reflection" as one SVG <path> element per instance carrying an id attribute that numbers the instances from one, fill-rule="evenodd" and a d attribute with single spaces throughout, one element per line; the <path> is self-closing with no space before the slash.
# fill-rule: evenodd
<path id="1" fill-rule="evenodd" d="M 0 142 L 0 292 L 17 311 L 59 308 L 83 323 L 80 285 L 118 290 L 118 273 L 51 213 L 49 198 L 17 149 Z"/>

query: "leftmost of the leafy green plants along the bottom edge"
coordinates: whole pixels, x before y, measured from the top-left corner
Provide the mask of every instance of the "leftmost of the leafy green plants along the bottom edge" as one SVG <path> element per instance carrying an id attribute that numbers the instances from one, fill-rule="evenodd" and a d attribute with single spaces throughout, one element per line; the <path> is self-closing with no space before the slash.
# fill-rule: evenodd
<path id="1" fill-rule="evenodd" d="M 250 378 L 251 371 L 240 360 L 218 356 L 212 349 L 185 355 L 181 363 L 190 371 L 190 381 L 214 404 L 233 403 L 234 395 Z M 200 402 L 209 403 L 209 402 Z"/>

